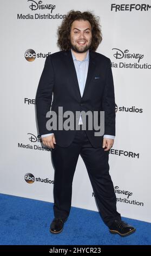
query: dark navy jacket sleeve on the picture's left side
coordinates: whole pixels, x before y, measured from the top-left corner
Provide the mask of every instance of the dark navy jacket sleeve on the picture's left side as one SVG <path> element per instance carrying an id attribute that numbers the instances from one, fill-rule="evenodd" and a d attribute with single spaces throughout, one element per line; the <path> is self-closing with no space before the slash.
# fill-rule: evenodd
<path id="1" fill-rule="evenodd" d="M 54 70 L 52 67 L 51 57 L 45 60 L 44 69 L 40 78 L 36 94 L 36 112 L 39 134 L 44 135 L 53 130 L 47 130 L 46 123 L 48 118 L 46 114 L 50 111 L 52 92 L 54 88 Z"/>

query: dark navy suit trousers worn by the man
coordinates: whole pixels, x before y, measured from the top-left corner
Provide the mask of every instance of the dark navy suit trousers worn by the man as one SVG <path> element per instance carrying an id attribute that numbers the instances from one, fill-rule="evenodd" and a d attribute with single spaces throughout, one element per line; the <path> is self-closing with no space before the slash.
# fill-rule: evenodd
<path id="1" fill-rule="evenodd" d="M 109 175 L 109 152 L 93 148 L 85 131 L 76 131 L 73 143 L 68 148 L 57 144 L 52 149 L 52 164 L 55 168 L 54 179 L 54 216 L 67 220 L 71 208 L 72 184 L 78 156 L 81 155 L 89 175 L 100 215 L 108 225 L 121 220 L 116 211 L 116 196 Z"/>

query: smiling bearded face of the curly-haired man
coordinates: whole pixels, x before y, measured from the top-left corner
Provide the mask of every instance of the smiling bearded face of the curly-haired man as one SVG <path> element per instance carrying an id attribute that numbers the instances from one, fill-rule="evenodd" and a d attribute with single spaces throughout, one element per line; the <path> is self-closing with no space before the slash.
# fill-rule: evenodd
<path id="1" fill-rule="evenodd" d="M 71 48 L 78 53 L 87 52 L 91 45 L 92 33 L 89 21 L 76 20 L 71 26 Z"/>

